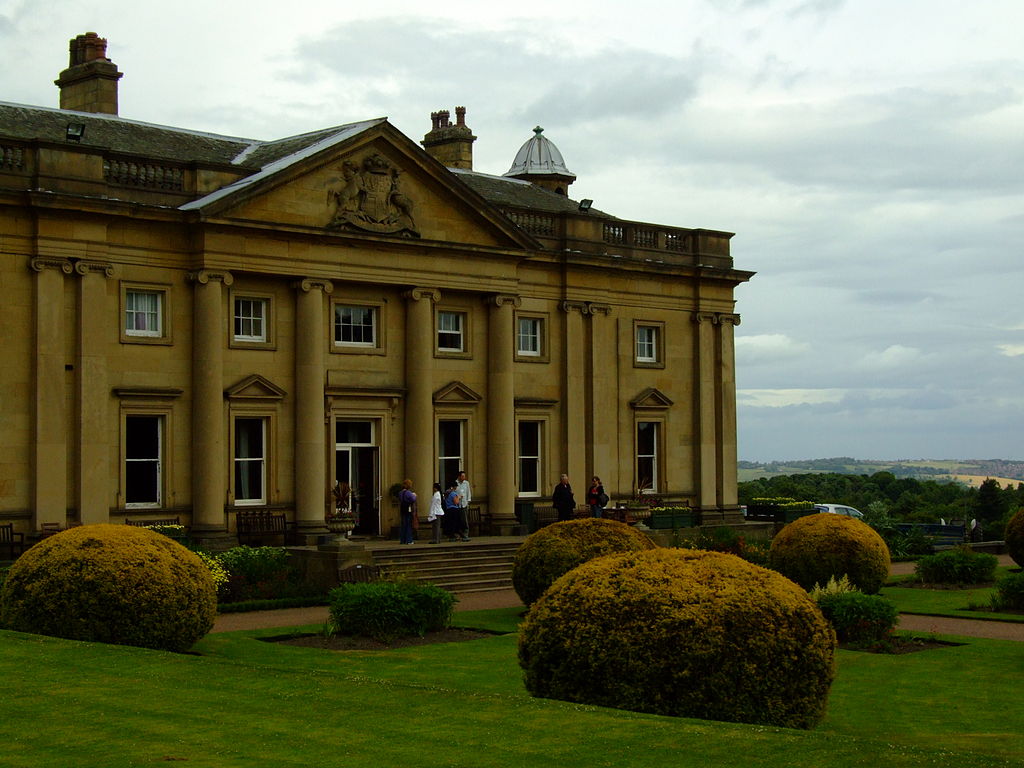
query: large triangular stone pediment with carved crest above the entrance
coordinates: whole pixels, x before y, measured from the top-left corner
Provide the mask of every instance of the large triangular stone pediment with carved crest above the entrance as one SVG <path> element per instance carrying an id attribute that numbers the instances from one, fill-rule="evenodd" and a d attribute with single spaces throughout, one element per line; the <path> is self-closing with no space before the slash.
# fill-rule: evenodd
<path id="1" fill-rule="evenodd" d="M 530 236 L 386 120 L 275 159 L 185 206 L 205 217 L 324 234 L 531 248 Z"/>

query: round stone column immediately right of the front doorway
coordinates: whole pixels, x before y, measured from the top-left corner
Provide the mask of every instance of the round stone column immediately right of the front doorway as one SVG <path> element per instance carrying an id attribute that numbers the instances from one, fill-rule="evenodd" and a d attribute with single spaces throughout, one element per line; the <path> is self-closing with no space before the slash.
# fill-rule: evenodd
<path id="1" fill-rule="evenodd" d="M 440 291 L 414 288 L 406 294 L 406 472 L 420 499 L 434 483 L 433 305 Z M 400 481 L 402 478 L 397 478 Z M 424 511 L 427 505 L 421 505 Z"/>

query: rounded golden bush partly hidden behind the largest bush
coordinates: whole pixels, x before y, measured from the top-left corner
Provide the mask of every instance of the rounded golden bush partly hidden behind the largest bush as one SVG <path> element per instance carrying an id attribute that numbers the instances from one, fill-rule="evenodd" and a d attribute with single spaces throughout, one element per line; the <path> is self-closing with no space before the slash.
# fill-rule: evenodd
<path id="1" fill-rule="evenodd" d="M 646 535 L 615 520 L 556 522 L 526 538 L 512 563 L 512 587 L 531 605 L 563 573 L 601 555 L 653 549 Z"/>

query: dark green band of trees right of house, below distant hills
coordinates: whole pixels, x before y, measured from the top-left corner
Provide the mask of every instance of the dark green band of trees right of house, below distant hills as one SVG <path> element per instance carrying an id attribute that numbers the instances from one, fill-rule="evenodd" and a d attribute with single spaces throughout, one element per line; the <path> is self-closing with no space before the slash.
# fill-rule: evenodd
<path id="1" fill-rule="evenodd" d="M 1024 507 L 1024 482 L 1001 487 L 998 481 L 987 479 L 974 488 L 957 482 L 897 477 L 892 472 L 869 475 L 817 472 L 739 483 L 740 504 L 778 496 L 816 504 L 846 504 L 863 512 L 871 508 L 905 522 L 977 519 L 986 539 L 999 539 L 1010 517 Z"/>

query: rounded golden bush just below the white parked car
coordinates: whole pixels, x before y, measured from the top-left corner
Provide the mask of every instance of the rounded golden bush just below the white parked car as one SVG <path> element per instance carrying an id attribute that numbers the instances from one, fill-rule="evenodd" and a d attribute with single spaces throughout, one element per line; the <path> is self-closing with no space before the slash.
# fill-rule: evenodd
<path id="1" fill-rule="evenodd" d="M 820 513 L 794 520 L 771 543 L 769 563 L 806 590 L 846 575 L 873 595 L 889 578 L 889 547 L 872 527 L 852 517 Z"/>

